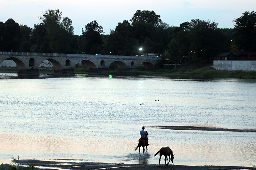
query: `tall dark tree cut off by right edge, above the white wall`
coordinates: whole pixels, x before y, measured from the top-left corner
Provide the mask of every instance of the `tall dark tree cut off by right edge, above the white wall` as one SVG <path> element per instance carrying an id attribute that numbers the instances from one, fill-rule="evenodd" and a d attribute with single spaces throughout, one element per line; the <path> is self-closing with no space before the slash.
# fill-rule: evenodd
<path id="1" fill-rule="evenodd" d="M 256 12 L 244 12 L 243 16 L 233 20 L 235 40 L 240 49 L 256 51 Z"/>

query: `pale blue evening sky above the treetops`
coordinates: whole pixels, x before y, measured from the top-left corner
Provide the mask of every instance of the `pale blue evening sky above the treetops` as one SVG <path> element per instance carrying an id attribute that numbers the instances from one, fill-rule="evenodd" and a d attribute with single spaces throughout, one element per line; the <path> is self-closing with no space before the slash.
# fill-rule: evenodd
<path id="1" fill-rule="evenodd" d="M 219 28 L 234 28 L 233 20 L 243 12 L 256 11 L 256 0 L 0 0 L 0 21 L 12 18 L 33 28 L 40 23 L 39 16 L 56 8 L 62 18 L 72 20 L 75 35 L 81 35 L 82 28 L 93 20 L 109 34 L 137 10 L 155 11 L 170 26 L 200 19 L 215 21 Z"/>

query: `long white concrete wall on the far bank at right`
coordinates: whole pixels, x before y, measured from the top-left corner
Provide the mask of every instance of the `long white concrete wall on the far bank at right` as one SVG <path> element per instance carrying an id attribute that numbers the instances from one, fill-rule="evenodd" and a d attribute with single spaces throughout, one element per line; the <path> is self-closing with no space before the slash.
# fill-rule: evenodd
<path id="1" fill-rule="evenodd" d="M 215 70 L 244 70 L 256 71 L 256 61 L 242 61 L 242 60 L 214 60 L 213 67 Z"/>

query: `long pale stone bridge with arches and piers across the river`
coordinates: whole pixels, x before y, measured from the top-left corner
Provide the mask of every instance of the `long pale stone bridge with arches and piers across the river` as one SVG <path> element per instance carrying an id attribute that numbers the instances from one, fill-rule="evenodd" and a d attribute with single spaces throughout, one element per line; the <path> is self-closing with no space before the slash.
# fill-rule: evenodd
<path id="1" fill-rule="evenodd" d="M 108 68 L 115 63 L 119 70 L 138 69 L 141 64 L 147 70 L 154 70 L 157 57 L 119 56 L 59 53 L 28 53 L 0 51 L 0 64 L 10 58 L 18 67 L 18 75 L 39 75 L 39 65 L 48 60 L 54 68 L 54 75 L 73 75 L 74 67 L 79 64 L 89 69 L 91 74 L 107 74 Z"/>

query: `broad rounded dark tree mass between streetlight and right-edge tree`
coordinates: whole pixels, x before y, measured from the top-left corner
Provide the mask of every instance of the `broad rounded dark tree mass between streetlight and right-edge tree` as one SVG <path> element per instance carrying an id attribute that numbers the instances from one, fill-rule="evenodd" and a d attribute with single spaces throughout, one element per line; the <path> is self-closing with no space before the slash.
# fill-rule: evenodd
<path id="1" fill-rule="evenodd" d="M 216 22 L 199 19 L 181 23 L 169 43 L 169 58 L 176 61 L 187 56 L 191 62 L 208 62 L 210 56 L 228 52 L 228 38 L 217 26 Z"/>

